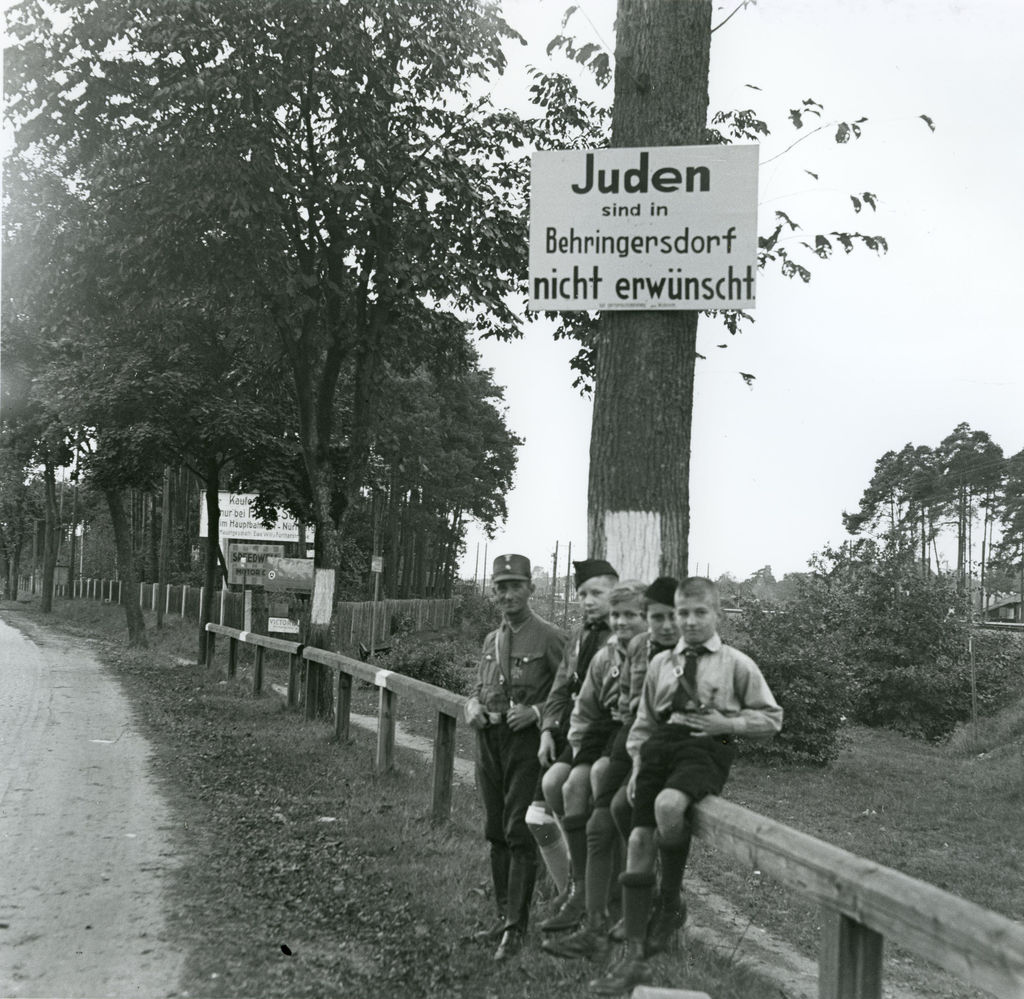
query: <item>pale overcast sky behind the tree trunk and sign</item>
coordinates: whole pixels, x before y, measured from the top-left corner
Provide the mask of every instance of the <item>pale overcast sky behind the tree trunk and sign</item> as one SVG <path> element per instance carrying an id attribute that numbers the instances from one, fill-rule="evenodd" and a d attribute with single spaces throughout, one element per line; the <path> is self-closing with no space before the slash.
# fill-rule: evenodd
<path id="1" fill-rule="evenodd" d="M 520 66 L 546 64 L 566 6 L 507 0 L 530 43 Z M 713 24 L 733 6 L 716 7 Z M 613 49 L 613 0 L 580 8 L 577 38 Z M 691 571 L 802 571 L 847 536 L 842 512 L 883 453 L 935 446 L 958 423 L 1008 455 L 1024 448 L 1022 51 L 1019 0 L 761 0 L 714 33 L 712 111 L 754 107 L 772 127 L 760 230 L 782 210 L 809 233 L 856 229 L 890 249 L 817 262 L 809 285 L 760 275 L 757 321 L 731 340 L 701 318 Z M 829 129 L 779 156 L 803 134 L 787 112 L 805 98 L 824 105 L 824 121 L 866 117 L 862 137 L 839 146 Z M 878 196 L 877 213 L 852 213 L 849 194 L 862 191 Z M 591 421 L 571 388 L 571 349 L 538 328 L 481 352 L 526 443 L 509 519 L 490 541 L 471 529 L 464 575 L 484 544 L 488 561 L 517 551 L 550 570 L 556 540 L 564 572 L 567 542 L 573 558 L 586 548 Z"/>

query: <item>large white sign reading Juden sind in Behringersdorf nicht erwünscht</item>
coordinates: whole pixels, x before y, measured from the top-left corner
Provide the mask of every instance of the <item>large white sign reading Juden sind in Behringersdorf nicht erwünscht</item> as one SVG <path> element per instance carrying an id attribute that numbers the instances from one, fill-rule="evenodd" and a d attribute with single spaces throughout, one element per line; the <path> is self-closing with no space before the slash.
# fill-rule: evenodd
<path id="1" fill-rule="evenodd" d="M 753 308 L 758 153 L 757 145 L 535 153 L 529 308 Z"/>

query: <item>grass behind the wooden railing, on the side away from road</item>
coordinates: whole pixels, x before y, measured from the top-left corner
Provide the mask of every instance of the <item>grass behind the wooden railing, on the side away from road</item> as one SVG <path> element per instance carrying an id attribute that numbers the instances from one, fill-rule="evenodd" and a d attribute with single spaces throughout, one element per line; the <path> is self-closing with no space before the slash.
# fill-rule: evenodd
<path id="1" fill-rule="evenodd" d="M 226 657 L 218 652 L 218 662 L 221 655 Z M 379 663 L 386 668 L 386 657 Z M 278 682 L 287 683 L 287 666 L 279 677 Z M 374 687 L 357 683 L 352 710 L 376 715 L 377 698 Z M 399 698 L 396 714 L 404 731 L 432 736 L 430 708 Z M 942 745 L 856 727 L 847 731 L 844 743 L 840 757 L 826 768 L 769 767 L 740 757 L 726 796 L 852 854 L 1024 919 L 1024 827 L 1019 819 L 1024 702 L 982 719 L 976 728 L 959 730 Z M 976 751 L 983 746 L 991 748 Z M 460 726 L 458 754 L 472 758 L 473 751 L 472 733 Z M 752 924 L 816 960 L 821 929 L 817 905 L 703 841 L 694 845 L 690 870 Z M 730 943 L 723 942 L 726 954 Z M 887 980 L 936 997 L 980 995 L 892 945 L 887 945 L 886 973 Z"/>

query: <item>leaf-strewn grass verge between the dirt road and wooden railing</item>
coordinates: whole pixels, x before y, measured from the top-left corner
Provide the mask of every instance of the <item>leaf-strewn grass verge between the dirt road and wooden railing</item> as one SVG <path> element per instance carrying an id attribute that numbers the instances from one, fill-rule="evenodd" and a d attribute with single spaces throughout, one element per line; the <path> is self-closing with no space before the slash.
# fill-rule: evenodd
<path id="1" fill-rule="evenodd" d="M 230 682 L 197 665 L 191 624 L 151 627 L 150 647 L 134 650 L 118 607 L 0 610 L 87 641 L 154 747 L 182 860 L 168 881 L 168 931 L 188 955 L 180 995 L 589 995 L 599 965 L 559 961 L 535 939 L 499 968 L 473 942 L 493 904 L 471 787 L 454 789 L 451 823 L 431 824 L 429 762 L 399 750 L 396 772 L 375 777 L 372 733 L 338 745 L 280 697 L 252 697 L 242 657 Z M 768 994 L 751 969 L 697 945 L 655 970 L 716 999 Z"/>

